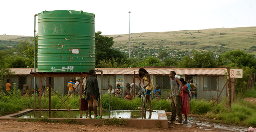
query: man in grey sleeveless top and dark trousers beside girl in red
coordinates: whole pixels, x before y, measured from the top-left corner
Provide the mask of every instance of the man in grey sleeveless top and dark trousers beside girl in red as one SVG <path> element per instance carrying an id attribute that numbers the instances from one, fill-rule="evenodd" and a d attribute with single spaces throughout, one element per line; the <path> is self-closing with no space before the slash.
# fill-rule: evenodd
<path id="1" fill-rule="evenodd" d="M 182 115 L 181 115 L 181 101 L 180 101 L 180 91 L 182 89 L 182 83 L 180 82 L 180 79 L 178 77 L 175 77 L 176 73 L 175 71 L 170 71 L 169 78 L 171 81 L 171 120 L 168 121 L 168 123 L 174 123 L 174 124 L 182 124 Z M 178 84 L 180 85 L 180 88 L 178 87 Z M 178 122 L 175 122 L 176 114 L 178 116 Z"/>

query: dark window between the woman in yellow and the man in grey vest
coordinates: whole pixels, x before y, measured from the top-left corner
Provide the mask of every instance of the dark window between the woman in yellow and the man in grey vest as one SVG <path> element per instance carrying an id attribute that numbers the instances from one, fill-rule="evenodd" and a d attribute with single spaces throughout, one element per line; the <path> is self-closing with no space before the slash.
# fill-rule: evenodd
<path id="1" fill-rule="evenodd" d="M 170 89 L 171 84 L 169 76 L 156 76 L 156 85 L 158 85 L 160 89 Z"/>

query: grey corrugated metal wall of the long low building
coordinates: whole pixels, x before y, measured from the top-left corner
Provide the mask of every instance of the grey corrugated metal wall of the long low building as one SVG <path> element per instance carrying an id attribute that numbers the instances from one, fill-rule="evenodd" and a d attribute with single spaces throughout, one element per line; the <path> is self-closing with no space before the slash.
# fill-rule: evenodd
<path id="1" fill-rule="evenodd" d="M 161 97 L 163 99 L 168 99 L 170 97 L 170 79 L 168 75 L 151 75 L 153 77 L 153 84 L 154 87 L 158 85 L 160 89 L 165 89 L 166 91 L 161 91 Z M 185 75 L 182 75 L 183 78 L 185 78 Z M 194 76 L 186 76 L 185 79 L 193 79 L 194 83 L 197 86 L 197 99 L 206 99 L 206 100 L 215 100 L 218 95 L 220 94 L 220 91 L 224 87 L 225 84 L 225 79 L 223 78 L 223 75 L 194 75 Z M 79 77 L 51 77 L 51 86 L 54 88 L 55 91 L 60 90 L 61 94 L 68 94 L 68 87 L 67 83 L 70 81 L 70 78 L 77 79 Z M 111 76 L 103 76 L 103 83 L 101 84 L 101 76 L 98 75 L 98 83 L 99 83 L 99 88 L 103 89 L 108 89 L 108 85 L 112 85 L 114 89 L 116 89 L 116 75 L 111 75 Z M 13 84 L 16 83 L 16 87 L 23 90 L 24 86 L 26 84 L 29 85 L 29 87 L 34 87 L 33 84 L 33 78 L 31 79 L 31 75 L 15 75 L 15 76 L 9 76 L 4 79 L 4 84 L 6 83 L 6 80 L 10 79 L 11 84 L 13 87 Z M 49 81 L 49 77 L 45 78 L 46 81 Z M 124 91 L 126 91 L 126 84 L 133 83 L 134 75 L 124 75 L 124 89 L 122 92 L 122 97 L 124 97 Z M 85 87 L 85 80 L 84 79 L 84 87 Z M 142 86 L 142 82 L 139 80 L 138 75 L 135 77 L 135 82 L 136 83 L 141 83 L 140 85 Z M 36 84 L 39 87 L 39 77 L 36 77 Z M 48 87 L 48 84 L 42 79 L 42 85 L 45 85 Z M 209 86 L 211 89 L 209 89 Z M 5 87 L 5 86 L 4 86 Z M 58 89 L 61 87 L 60 89 Z M 2 88 L 5 89 L 5 88 Z M 22 95 L 23 91 L 21 91 Z M 107 90 L 103 90 L 103 94 L 107 93 Z M 153 95 L 153 91 L 152 91 Z M 225 98 L 226 97 L 226 87 L 224 87 L 222 93 L 220 94 L 219 99 Z"/>

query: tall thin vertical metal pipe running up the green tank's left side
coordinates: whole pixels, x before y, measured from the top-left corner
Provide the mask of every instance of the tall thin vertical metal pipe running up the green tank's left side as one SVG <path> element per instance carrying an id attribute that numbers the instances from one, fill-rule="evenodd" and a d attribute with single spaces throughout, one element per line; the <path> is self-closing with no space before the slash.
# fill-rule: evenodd
<path id="1" fill-rule="evenodd" d="M 34 16 L 34 72 L 36 72 L 36 16 Z M 36 77 L 34 77 L 34 118 L 36 117 Z"/>

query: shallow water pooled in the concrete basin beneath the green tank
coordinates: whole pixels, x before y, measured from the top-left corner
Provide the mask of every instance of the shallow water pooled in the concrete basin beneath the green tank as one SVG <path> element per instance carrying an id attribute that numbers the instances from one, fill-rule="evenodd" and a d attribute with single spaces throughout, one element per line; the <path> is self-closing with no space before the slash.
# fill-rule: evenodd
<path id="1" fill-rule="evenodd" d="M 73 110 L 73 114 L 76 116 L 76 118 L 80 118 L 80 111 Z M 51 111 L 50 117 L 51 118 L 74 118 L 73 114 L 70 111 L 66 110 L 58 110 L 56 113 L 55 111 Z M 92 117 L 94 116 L 94 112 L 91 112 Z M 24 113 L 22 115 L 16 116 L 19 118 L 34 118 L 34 112 L 28 112 Z M 48 118 L 49 112 L 48 111 L 42 111 L 41 112 L 41 118 Z M 142 112 L 141 111 L 114 111 L 110 110 L 110 118 L 141 118 Z M 36 111 L 36 118 L 39 118 L 39 111 Z M 86 111 L 82 113 L 82 118 L 86 118 Z M 102 111 L 102 118 L 109 118 L 109 111 Z M 144 119 L 158 119 L 158 112 L 143 112 L 143 118 Z"/>

